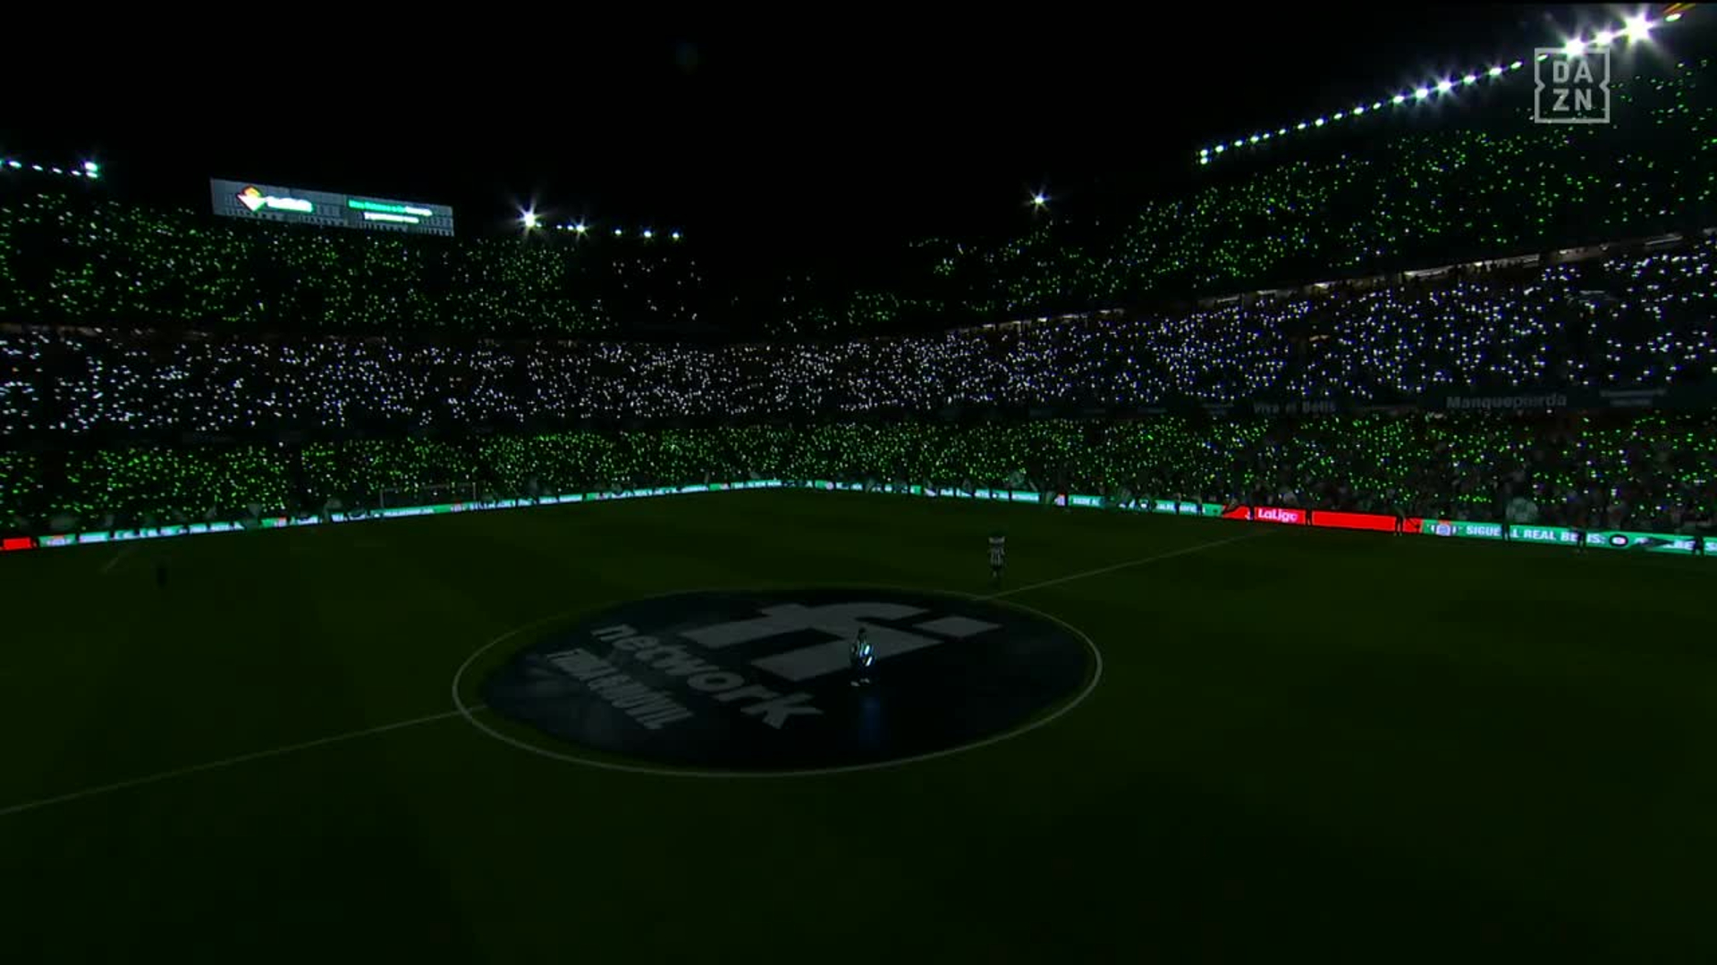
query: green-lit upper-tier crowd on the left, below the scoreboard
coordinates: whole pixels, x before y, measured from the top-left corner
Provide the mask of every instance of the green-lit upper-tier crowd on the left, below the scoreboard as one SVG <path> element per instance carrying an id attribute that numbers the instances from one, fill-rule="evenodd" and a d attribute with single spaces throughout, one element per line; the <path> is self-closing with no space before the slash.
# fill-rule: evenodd
<path id="1" fill-rule="evenodd" d="M 438 239 L 230 223 L 43 191 L 0 197 L 0 319 L 300 333 L 570 335 L 701 325 L 666 237 Z"/>

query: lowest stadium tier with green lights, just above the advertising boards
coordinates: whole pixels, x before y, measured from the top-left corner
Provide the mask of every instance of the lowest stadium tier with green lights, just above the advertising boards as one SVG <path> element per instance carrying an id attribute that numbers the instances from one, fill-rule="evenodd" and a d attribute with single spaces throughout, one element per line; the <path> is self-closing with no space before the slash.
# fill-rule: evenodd
<path id="1" fill-rule="evenodd" d="M 1164 416 L 3 453 L 0 520 L 41 536 L 817 479 L 1683 532 L 1717 505 L 1714 429 L 1710 412 Z"/>

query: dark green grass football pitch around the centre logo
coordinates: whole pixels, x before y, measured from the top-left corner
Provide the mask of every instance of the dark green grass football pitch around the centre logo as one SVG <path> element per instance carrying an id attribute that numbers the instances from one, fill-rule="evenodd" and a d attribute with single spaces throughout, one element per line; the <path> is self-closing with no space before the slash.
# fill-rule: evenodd
<path id="1" fill-rule="evenodd" d="M 1712 962 L 1714 580 L 805 491 L 5 555 L 0 958 Z M 567 725 L 591 743 L 488 706 L 544 634 L 639 640 L 651 601 L 723 591 L 1061 628 L 1063 687 L 924 644 L 816 690 L 860 721 L 826 768 L 769 766 L 802 721 L 752 670 L 826 682 L 809 656 L 687 678 L 675 706 L 726 716 L 651 709 L 649 757 L 606 704 Z"/>

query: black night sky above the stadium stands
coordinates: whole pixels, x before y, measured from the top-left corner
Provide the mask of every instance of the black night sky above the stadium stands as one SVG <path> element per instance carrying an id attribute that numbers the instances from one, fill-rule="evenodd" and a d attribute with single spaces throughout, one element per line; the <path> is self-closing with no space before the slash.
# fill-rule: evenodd
<path id="1" fill-rule="evenodd" d="M 1097 179 L 1193 177 L 1190 153 L 1214 137 L 1530 58 L 1599 10 L 1205 3 L 920 22 L 829 7 L 816 24 L 611 36 L 529 19 L 309 29 L 323 50 L 299 55 L 213 22 L 146 43 L 110 26 L 70 52 L 15 48 L 7 86 L 29 94 L 0 110 L 0 153 L 96 153 L 115 191 L 197 206 L 216 173 L 441 201 L 465 234 L 536 197 L 764 261 L 1018 228 L 1039 185 L 1073 203 Z M 318 22 L 294 15 L 278 36 Z"/>

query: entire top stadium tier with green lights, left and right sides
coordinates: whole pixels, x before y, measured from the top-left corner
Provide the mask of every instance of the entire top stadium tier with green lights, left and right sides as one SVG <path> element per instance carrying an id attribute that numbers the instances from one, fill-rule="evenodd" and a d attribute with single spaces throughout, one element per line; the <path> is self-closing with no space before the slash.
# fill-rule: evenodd
<path id="1" fill-rule="evenodd" d="M 215 225 L 101 199 L 91 184 L 76 194 L 14 191 L 0 194 L 0 321 L 850 337 L 1138 311 L 1717 225 L 1710 81 L 1708 60 L 1617 81 L 1605 125 L 1532 124 L 1530 100 L 1499 101 L 1501 117 L 1451 105 L 1429 129 L 1379 120 L 1198 172 L 1193 187 L 1114 209 L 1095 230 L 1049 222 L 1004 244 L 917 246 L 886 290 L 706 278 L 690 242 L 666 237 L 563 244 L 573 239 Z M 767 297 L 733 295 L 764 288 Z"/>

